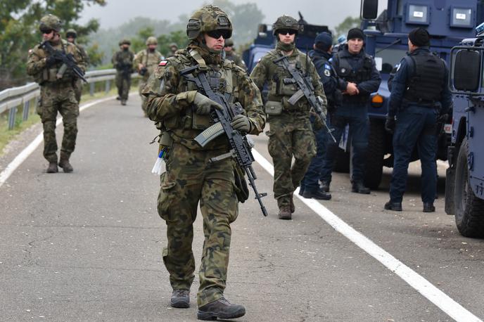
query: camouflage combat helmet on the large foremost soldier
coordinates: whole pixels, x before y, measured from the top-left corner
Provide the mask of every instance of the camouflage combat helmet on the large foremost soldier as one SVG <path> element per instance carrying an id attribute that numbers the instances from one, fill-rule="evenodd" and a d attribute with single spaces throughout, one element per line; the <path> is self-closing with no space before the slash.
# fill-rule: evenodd
<path id="1" fill-rule="evenodd" d="M 227 38 L 232 36 L 232 23 L 227 14 L 217 6 L 204 6 L 193 13 L 186 25 L 186 35 L 196 39 L 203 32 L 227 30 Z"/>

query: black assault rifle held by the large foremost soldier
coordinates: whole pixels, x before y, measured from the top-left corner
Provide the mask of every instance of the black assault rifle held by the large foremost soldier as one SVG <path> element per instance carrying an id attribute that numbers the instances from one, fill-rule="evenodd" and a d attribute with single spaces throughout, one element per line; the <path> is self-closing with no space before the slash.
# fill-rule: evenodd
<path id="1" fill-rule="evenodd" d="M 255 187 L 255 179 L 257 179 L 257 176 L 255 176 L 254 169 L 252 168 L 252 162 L 254 162 L 254 156 L 252 155 L 251 151 L 252 146 L 250 145 L 246 135 L 241 134 L 241 132 L 233 129 L 231 126 L 232 118 L 236 115 L 236 113 L 241 112 L 241 108 L 239 110 L 234 110 L 223 94 L 213 91 L 212 87 L 210 86 L 210 82 L 208 82 L 205 71 L 200 70 L 198 65 L 187 67 L 184 70 L 181 70 L 180 75 L 189 82 L 195 83 L 201 94 L 223 106 L 223 110 L 219 110 L 217 108 L 212 110 L 211 116 L 212 120 L 215 121 L 215 124 L 200 133 L 195 138 L 196 143 L 203 147 L 212 139 L 219 136 L 219 134 L 224 133 L 225 136 L 227 136 L 227 140 L 229 141 L 231 147 L 229 153 L 219 155 L 218 157 L 213 157 L 210 161 L 216 162 L 217 160 L 222 160 L 226 157 L 234 157 L 238 167 L 241 167 L 243 172 L 247 174 L 249 184 L 255 193 L 255 199 L 257 199 L 259 202 L 262 214 L 267 216 L 267 210 L 265 210 L 261 200 L 261 198 L 265 197 L 267 193 L 258 193 L 257 188 Z"/>

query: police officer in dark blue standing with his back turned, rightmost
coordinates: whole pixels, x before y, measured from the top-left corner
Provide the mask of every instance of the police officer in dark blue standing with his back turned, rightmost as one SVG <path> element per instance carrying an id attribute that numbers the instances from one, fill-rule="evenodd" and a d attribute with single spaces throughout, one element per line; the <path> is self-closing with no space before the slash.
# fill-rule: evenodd
<path id="1" fill-rule="evenodd" d="M 386 210 L 402 211 L 407 171 L 416 145 L 421 161 L 421 198 L 424 212 L 435 212 L 437 165 L 436 123 L 452 108 L 447 86 L 449 70 L 444 60 L 429 51 L 430 36 L 424 28 L 409 33 L 409 54 L 400 62 L 392 84 L 386 130 L 393 132 L 393 173 Z"/>

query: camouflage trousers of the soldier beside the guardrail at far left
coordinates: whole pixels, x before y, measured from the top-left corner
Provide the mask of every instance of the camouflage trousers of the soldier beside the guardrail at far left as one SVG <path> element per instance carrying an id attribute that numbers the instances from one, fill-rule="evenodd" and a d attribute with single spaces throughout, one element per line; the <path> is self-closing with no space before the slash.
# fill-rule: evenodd
<path id="1" fill-rule="evenodd" d="M 72 84 L 46 84 L 41 87 L 41 103 L 37 112 L 44 124 L 44 157 L 49 162 L 57 162 L 56 119 L 57 113 L 63 117 L 64 136 L 60 157 L 69 158 L 75 148 L 77 138 L 77 104 Z"/>

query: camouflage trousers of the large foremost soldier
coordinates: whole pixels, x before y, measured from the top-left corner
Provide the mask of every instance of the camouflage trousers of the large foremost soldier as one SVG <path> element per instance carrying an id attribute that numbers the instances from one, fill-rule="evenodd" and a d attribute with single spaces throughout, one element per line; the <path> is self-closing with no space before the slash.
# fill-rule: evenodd
<path id="1" fill-rule="evenodd" d="M 191 244 L 198 202 L 203 217 L 202 260 L 198 275 L 198 307 L 223 296 L 227 281 L 230 224 L 238 215 L 234 166 L 230 159 L 210 163 L 227 150 L 191 150 L 174 143 L 167 171 L 160 177 L 158 214 L 167 224 L 163 262 L 174 290 L 190 289 L 195 271 Z"/>

